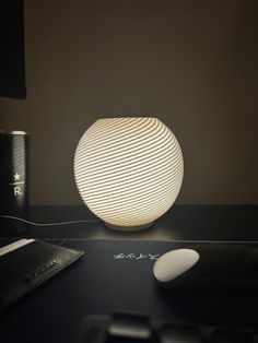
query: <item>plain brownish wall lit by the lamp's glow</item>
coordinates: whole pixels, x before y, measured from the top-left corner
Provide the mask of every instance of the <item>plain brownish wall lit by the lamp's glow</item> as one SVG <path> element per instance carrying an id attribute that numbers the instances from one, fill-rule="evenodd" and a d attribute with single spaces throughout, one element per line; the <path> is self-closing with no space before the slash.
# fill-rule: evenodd
<path id="1" fill-rule="evenodd" d="M 25 0 L 32 203 L 81 203 L 72 161 L 97 118 L 154 115 L 185 157 L 178 203 L 258 203 L 258 1 Z"/>

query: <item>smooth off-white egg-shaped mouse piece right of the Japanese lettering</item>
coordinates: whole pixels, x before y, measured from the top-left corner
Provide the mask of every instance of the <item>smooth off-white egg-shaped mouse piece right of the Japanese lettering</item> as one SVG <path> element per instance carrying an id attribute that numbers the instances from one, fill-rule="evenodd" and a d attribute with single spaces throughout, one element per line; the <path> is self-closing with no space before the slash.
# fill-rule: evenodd
<path id="1" fill-rule="evenodd" d="M 200 256 L 192 249 L 176 249 L 161 256 L 154 267 L 153 273 L 160 282 L 171 282 L 192 268 Z"/>

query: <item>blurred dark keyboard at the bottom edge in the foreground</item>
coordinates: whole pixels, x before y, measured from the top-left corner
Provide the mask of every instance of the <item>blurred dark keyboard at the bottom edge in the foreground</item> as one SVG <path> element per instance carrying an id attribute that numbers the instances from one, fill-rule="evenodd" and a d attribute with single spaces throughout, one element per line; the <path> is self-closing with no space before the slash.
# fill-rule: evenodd
<path id="1" fill-rule="evenodd" d="M 84 319 L 78 343 L 257 343 L 258 330 L 192 326 L 117 314 Z"/>

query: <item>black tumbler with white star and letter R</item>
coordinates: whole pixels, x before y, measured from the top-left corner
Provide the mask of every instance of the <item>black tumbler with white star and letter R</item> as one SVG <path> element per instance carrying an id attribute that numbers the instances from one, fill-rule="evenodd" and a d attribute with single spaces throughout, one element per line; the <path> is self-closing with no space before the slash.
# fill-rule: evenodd
<path id="1" fill-rule="evenodd" d="M 0 214 L 28 218 L 30 135 L 23 131 L 0 132 Z M 27 225 L 0 217 L 0 237 L 25 236 Z"/>

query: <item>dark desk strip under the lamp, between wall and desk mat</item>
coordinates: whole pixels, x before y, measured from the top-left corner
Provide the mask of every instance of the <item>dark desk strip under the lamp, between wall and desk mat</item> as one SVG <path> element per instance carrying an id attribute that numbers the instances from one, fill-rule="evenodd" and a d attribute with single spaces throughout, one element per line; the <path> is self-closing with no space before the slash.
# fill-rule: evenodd
<path id="1" fill-rule="evenodd" d="M 256 240 L 258 205 L 174 205 L 148 229 L 124 233 L 109 229 L 86 206 L 32 206 L 31 220 L 40 223 L 95 220 L 95 223 L 31 226 L 39 238 L 133 240 Z"/>

